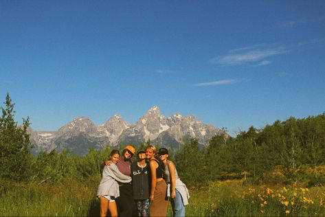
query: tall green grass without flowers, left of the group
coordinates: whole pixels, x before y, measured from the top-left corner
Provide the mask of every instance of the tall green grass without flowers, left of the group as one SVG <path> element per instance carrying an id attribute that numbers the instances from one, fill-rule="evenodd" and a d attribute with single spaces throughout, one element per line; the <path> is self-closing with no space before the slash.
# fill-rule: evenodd
<path id="1" fill-rule="evenodd" d="M 1 181 L 1 216 L 98 216 L 96 190 L 100 178 L 47 183 Z"/>

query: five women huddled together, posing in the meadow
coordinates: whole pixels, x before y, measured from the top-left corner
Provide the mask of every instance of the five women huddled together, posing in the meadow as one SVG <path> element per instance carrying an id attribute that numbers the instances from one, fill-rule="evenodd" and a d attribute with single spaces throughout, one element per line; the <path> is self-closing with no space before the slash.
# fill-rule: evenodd
<path id="1" fill-rule="evenodd" d="M 132 161 L 137 155 L 137 161 Z M 166 216 L 168 201 L 173 216 L 185 216 L 188 189 L 179 179 L 175 163 L 168 159 L 168 149 L 146 146 L 137 153 L 126 146 L 122 155 L 112 150 L 103 163 L 102 181 L 97 196 L 100 216 Z"/>

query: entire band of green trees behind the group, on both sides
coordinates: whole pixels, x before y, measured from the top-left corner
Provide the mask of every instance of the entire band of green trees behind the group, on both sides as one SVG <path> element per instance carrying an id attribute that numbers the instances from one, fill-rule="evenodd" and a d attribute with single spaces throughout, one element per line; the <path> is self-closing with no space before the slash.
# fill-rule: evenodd
<path id="1" fill-rule="evenodd" d="M 69 150 L 33 156 L 27 134 L 29 118 L 23 119 L 23 126 L 18 126 L 9 94 L 4 104 L 0 117 L 0 179 L 58 183 L 101 174 L 100 165 L 109 157 L 111 147 L 91 148 L 85 156 L 71 155 Z M 204 148 L 199 148 L 197 139 L 192 138 L 179 150 L 170 150 L 179 176 L 189 186 L 223 179 L 325 183 L 324 170 L 320 170 L 325 165 L 324 156 L 325 113 L 302 119 L 290 117 L 283 122 L 276 120 L 263 128 L 251 126 L 236 137 L 216 135 Z"/>

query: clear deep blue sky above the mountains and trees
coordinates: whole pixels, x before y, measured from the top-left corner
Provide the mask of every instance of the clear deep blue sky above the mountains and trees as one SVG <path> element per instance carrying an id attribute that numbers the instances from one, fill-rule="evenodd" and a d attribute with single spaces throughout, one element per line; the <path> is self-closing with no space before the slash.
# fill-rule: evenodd
<path id="1" fill-rule="evenodd" d="M 325 1 L 0 1 L 0 100 L 58 130 L 152 106 L 231 135 L 325 111 Z M 2 104 L 3 105 L 3 104 Z"/>

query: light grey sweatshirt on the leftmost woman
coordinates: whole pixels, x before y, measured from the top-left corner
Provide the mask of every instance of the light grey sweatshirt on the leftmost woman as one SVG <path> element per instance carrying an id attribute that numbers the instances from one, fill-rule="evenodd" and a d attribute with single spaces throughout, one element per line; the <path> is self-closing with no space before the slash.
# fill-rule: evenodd
<path id="1" fill-rule="evenodd" d="M 100 181 L 97 196 L 109 195 L 117 198 L 120 196 L 120 190 L 117 181 L 120 183 L 129 183 L 131 180 L 132 179 L 130 176 L 122 174 L 120 170 L 117 169 L 115 163 L 105 165 L 104 170 L 102 171 L 102 181 Z"/>

